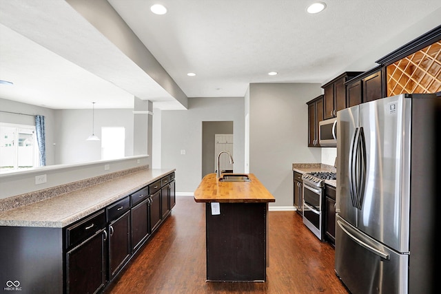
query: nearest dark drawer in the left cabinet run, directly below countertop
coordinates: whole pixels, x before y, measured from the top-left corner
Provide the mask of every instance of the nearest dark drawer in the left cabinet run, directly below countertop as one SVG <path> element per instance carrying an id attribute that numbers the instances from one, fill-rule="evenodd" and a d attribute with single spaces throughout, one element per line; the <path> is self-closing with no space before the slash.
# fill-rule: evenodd
<path id="1" fill-rule="evenodd" d="M 88 239 L 97 231 L 105 228 L 105 224 L 105 213 L 102 210 L 99 211 L 99 213 L 95 213 L 93 216 L 79 222 L 78 224 L 68 227 L 66 229 L 67 248 Z"/>

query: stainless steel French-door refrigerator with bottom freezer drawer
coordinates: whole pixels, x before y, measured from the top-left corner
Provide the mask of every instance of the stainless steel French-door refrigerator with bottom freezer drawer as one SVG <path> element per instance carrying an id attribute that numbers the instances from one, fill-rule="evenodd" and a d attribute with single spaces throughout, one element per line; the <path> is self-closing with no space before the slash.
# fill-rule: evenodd
<path id="1" fill-rule="evenodd" d="M 441 97 L 391 96 L 337 120 L 336 274 L 353 294 L 433 293 Z"/>

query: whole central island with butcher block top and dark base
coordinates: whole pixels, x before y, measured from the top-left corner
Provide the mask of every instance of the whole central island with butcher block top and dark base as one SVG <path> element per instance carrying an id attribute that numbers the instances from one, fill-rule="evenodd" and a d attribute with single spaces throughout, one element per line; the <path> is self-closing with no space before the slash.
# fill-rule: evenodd
<path id="1" fill-rule="evenodd" d="M 265 282 L 274 196 L 254 174 L 207 174 L 194 200 L 205 202 L 207 282 Z"/>

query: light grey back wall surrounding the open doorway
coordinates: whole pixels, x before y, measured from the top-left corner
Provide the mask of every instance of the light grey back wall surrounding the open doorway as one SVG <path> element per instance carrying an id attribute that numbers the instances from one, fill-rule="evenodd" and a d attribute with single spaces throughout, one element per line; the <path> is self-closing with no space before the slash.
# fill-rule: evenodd
<path id="1" fill-rule="evenodd" d="M 201 183 L 203 121 L 233 121 L 234 171 L 244 172 L 243 97 L 189 98 L 187 110 L 163 110 L 161 118 L 161 168 L 176 168 L 177 193 L 193 193 Z"/>

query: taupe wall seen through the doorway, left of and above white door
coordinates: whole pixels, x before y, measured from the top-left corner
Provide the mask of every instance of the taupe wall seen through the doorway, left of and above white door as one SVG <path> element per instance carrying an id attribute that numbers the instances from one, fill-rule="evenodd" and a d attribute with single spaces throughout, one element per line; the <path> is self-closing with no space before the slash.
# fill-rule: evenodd
<path id="1" fill-rule="evenodd" d="M 233 121 L 202 122 L 202 178 L 216 171 L 216 134 L 234 134 Z"/>

